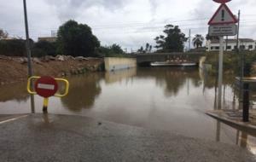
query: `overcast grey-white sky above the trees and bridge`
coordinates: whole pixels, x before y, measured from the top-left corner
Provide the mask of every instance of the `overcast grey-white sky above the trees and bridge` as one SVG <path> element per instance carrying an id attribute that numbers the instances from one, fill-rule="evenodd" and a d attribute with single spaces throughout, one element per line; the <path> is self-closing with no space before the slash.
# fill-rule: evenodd
<path id="1" fill-rule="evenodd" d="M 22 0 L 0 0 L 0 28 L 24 38 Z M 50 36 L 67 20 L 87 24 L 102 45 L 119 43 L 123 49 L 154 45 L 166 24 L 178 25 L 188 36 L 207 34 L 207 21 L 218 9 L 212 0 L 26 0 L 31 37 Z M 256 1 L 228 3 L 241 9 L 241 38 L 256 39 Z"/>

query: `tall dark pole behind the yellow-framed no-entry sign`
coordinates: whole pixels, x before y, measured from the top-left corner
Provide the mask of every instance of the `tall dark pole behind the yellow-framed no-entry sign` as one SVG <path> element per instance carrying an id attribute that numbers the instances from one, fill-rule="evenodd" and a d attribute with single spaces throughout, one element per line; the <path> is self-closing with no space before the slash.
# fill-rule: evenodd
<path id="1" fill-rule="evenodd" d="M 26 0 L 23 0 L 23 7 L 24 7 L 24 19 L 25 19 L 25 30 L 26 30 L 27 68 L 28 68 L 28 78 L 30 78 L 32 77 L 33 73 L 32 73 L 30 39 L 29 39 L 28 23 L 27 23 L 27 13 L 26 13 Z M 30 86 L 32 87 L 32 84 Z M 32 109 L 32 113 L 35 113 L 34 95 L 31 95 L 31 109 Z"/>

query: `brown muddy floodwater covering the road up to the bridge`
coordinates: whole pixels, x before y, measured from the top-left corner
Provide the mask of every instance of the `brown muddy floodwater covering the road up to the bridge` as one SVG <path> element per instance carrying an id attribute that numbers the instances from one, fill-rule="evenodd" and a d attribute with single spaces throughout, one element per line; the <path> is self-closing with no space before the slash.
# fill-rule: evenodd
<path id="1" fill-rule="evenodd" d="M 256 154 L 255 134 L 207 116 L 214 109 L 215 78 L 197 68 L 138 68 L 92 72 L 68 78 L 70 92 L 49 99 L 49 113 L 83 115 L 120 124 L 167 130 L 248 148 Z M 237 107 L 234 77 L 224 77 L 224 107 Z M 0 87 L 0 114 L 30 113 L 26 83 Z M 36 113 L 43 99 L 36 95 Z"/>

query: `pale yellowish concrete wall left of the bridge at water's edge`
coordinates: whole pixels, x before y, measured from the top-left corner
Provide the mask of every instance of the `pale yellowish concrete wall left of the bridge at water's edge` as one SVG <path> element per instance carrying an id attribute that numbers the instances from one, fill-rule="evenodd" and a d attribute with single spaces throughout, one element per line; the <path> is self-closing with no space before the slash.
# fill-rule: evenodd
<path id="1" fill-rule="evenodd" d="M 137 67 L 136 58 L 105 57 L 104 62 L 107 72 Z"/>

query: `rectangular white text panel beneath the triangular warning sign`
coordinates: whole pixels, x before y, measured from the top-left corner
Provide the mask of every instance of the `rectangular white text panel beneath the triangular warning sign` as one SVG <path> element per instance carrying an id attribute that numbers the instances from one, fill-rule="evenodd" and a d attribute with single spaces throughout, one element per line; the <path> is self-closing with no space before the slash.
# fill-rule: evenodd
<path id="1" fill-rule="evenodd" d="M 210 36 L 236 36 L 236 24 L 209 26 Z"/>

